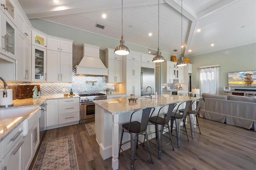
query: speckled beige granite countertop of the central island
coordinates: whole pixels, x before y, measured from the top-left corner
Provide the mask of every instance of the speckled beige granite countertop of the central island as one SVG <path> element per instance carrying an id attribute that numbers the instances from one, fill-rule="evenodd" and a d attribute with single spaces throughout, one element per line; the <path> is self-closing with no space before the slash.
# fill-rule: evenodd
<path id="1" fill-rule="evenodd" d="M 118 99 L 106 99 L 93 101 L 102 109 L 108 111 L 111 115 L 125 113 L 127 111 L 134 111 L 145 107 L 156 107 L 165 105 L 167 103 L 179 103 L 181 101 L 188 101 L 196 99 L 196 97 L 179 96 L 179 95 L 158 95 L 158 99 L 150 99 L 148 97 L 139 97 L 134 103 L 129 102 L 129 97 Z"/>

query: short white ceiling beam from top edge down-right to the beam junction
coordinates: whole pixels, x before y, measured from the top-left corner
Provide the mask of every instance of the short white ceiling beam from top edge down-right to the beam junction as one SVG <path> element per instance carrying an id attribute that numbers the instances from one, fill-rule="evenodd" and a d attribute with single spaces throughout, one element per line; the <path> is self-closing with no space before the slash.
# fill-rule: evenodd
<path id="1" fill-rule="evenodd" d="M 164 2 L 166 2 L 168 5 L 172 6 L 172 8 L 181 13 L 180 0 L 165 0 Z M 182 3 L 182 15 L 184 15 L 190 21 L 196 22 L 196 13 L 184 3 Z"/>

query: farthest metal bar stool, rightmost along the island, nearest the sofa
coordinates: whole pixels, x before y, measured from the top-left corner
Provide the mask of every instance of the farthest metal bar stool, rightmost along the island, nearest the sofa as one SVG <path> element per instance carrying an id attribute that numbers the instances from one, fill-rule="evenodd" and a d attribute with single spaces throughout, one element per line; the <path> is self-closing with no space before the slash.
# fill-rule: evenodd
<path id="1" fill-rule="evenodd" d="M 187 115 L 189 115 L 189 121 L 190 121 L 190 129 L 191 129 L 191 136 L 192 138 L 194 138 L 194 117 L 196 117 L 196 122 L 197 122 L 197 125 L 198 128 L 199 128 L 199 132 L 201 134 L 201 131 L 200 131 L 200 126 L 199 126 L 199 123 L 198 123 L 198 117 L 197 117 L 197 114 L 200 110 L 200 107 L 201 107 L 201 103 L 202 103 L 202 100 L 203 98 L 200 98 L 199 101 L 197 101 L 198 99 L 194 100 L 191 104 L 191 107 L 189 109 L 189 111 L 187 112 Z M 192 110 L 192 105 L 194 104 L 194 102 L 197 102 L 197 105 L 196 105 L 196 109 L 195 110 Z M 184 112 L 184 109 L 180 109 L 179 110 L 180 113 L 183 113 Z"/>

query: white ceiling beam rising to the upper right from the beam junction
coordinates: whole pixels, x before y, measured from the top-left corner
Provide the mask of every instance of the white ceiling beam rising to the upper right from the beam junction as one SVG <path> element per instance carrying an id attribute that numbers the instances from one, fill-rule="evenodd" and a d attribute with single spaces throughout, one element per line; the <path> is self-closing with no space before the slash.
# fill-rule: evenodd
<path id="1" fill-rule="evenodd" d="M 215 12 L 218 12 L 219 10 L 222 10 L 240 0 L 223 0 L 219 3 L 207 8 L 206 10 L 203 10 L 202 12 L 199 12 L 197 14 L 197 20 L 201 20 L 202 18 L 205 18 L 211 14 L 214 14 Z"/>

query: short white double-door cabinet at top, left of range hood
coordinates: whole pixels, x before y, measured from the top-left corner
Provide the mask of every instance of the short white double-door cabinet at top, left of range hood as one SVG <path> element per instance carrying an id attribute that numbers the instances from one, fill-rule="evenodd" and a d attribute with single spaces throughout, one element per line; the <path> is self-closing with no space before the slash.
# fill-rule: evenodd
<path id="1" fill-rule="evenodd" d="M 55 38 L 47 38 L 47 50 L 60 51 L 65 53 L 73 52 L 73 42 L 58 40 Z"/>

